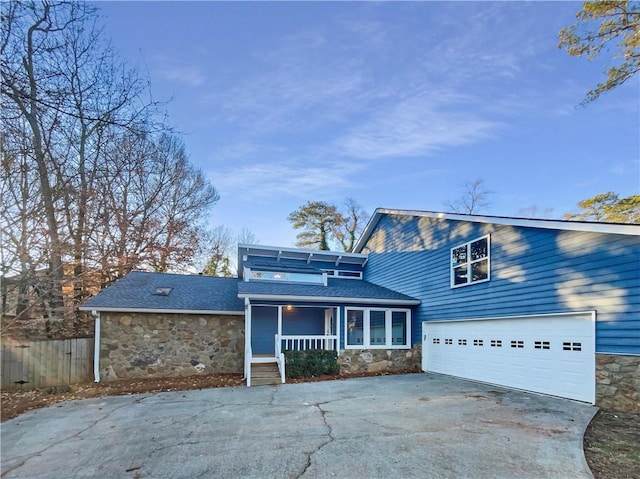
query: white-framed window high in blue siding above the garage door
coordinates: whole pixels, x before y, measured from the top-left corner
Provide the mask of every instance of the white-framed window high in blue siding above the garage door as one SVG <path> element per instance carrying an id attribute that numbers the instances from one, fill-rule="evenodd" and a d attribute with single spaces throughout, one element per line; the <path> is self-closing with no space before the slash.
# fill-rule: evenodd
<path id="1" fill-rule="evenodd" d="M 490 279 L 489 235 L 451 248 L 451 287 L 483 283 Z"/>

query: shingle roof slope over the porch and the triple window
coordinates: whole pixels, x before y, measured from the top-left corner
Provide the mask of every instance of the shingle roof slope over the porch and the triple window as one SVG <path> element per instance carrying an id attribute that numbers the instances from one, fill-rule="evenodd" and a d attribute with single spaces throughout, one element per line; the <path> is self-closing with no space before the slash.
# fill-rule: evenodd
<path id="1" fill-rule="evenodd" d="M 318 300 L 331 299 L 349 302 L 367 302 L 382 300 L 393 303 L 418 304 L 420 301 L 405 294 L 392 291 L 377 284 L 356 279 L 328 278 L 327 286 L 321 284 L 299 284 L 277 281 L 247 281 L 238 283 L 238 294 L 241 297 L 282 297 Z"/>

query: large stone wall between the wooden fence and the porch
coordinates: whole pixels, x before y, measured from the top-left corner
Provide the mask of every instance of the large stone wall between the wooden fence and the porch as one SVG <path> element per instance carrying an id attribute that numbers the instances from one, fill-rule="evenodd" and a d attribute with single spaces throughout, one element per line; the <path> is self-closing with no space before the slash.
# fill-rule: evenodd
<path id="1" fill-rule="evenodd" d="M 244 316 L 102 313 L 100 324 L 103 381 L 243 371 Z"/>

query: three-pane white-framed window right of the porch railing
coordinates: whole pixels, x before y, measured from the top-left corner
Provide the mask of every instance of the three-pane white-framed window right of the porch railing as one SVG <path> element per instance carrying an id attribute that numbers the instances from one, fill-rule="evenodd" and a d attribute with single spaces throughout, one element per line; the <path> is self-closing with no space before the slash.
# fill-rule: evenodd
<path id="1" fill-rule="evenodd" d="M 391 308 L 347 308 L 346 348 L 411 347 L 411 311 Z"/>

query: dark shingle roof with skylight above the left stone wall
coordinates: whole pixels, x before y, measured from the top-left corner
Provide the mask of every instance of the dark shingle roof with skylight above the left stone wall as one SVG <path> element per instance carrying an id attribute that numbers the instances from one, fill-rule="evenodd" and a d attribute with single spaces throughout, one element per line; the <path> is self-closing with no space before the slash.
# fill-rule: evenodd
<path id="1" fill-rule="evenodd" d="M 80 309 L 98 311 L 210 311 L 244 313 L 238 278 L 132 271 L 86 301 Z M 167 296 L 154 294 L 171 288 Z"/>

